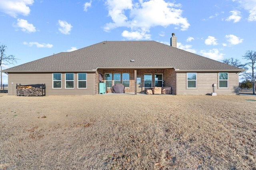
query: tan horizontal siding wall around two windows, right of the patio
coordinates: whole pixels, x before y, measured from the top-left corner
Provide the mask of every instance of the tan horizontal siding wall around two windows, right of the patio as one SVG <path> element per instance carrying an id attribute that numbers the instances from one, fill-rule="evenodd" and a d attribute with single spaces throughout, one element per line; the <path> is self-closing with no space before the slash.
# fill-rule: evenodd
<path id="1" fill-rule="evenodd" d="M 197 72 L 197 88 L 187 88 L 186 72 L 177 72 L 176 76 L 178 95 L 205 95 L 212 93 L 212 84 L 216 84 L 215 92 L 220 95 L 238 94 L 238 73 L 228 73 L 228 88 L 218 88 L 218 72 Z"/>

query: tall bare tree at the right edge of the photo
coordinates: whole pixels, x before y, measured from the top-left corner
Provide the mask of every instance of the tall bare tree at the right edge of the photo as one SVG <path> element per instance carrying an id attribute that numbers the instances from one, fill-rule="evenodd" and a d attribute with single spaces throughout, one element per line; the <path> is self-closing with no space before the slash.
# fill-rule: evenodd
<path id="1" fill-rule="evenodd" d="M 252 72 L 244 73 L 244 79 L 252 81 L 252 94 L 255 94 L 256 74 L 254 72 L 254 69 L 256 69 L 256 51 L 246 51 L 245 55 L 243 56 L 243 59 L 249 61 L 247 65 L 250 66 L 250 68 L 252 68 Z"/>

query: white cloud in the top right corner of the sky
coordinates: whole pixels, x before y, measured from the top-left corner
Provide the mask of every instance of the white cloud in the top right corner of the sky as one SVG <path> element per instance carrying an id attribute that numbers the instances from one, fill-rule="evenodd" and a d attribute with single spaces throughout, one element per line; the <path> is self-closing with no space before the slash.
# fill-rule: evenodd
<path id="1" fill-rule="evenodd" d="M 256 0 L 233 0 L 240 3 L 242 8 L 249 12 L 248 21 L 256 21 Z"/>

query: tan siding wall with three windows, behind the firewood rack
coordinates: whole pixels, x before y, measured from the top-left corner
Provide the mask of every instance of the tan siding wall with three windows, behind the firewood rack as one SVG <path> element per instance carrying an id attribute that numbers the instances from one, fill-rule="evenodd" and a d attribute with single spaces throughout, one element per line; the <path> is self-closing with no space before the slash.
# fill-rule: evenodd
<path id="1" fill-rule="evenodd" d="M 62 73 L 62 88 L 52 88 L 52 73 L 9 73 L 8 95 L 16 95 L 16 84 L 46 84 L 46 95 L 93 95 L 94 72 L 87 72 L 87 88 L 77 88 L 77 73 L 74 73 L 74 89 L 65 89 L 65 73 Z M 13 82 L 13 87 L 12 87 Z"/>

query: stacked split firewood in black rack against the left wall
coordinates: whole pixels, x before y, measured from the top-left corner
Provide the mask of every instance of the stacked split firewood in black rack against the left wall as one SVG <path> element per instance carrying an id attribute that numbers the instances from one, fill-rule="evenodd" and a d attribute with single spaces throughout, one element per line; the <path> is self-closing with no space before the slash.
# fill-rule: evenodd
<path id="1" fill-rule="evenodd" d="M 42 88 L 17 86 L 17 96 L 43 96 Z"/>

